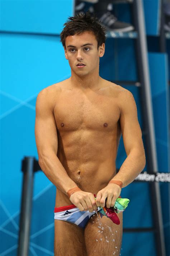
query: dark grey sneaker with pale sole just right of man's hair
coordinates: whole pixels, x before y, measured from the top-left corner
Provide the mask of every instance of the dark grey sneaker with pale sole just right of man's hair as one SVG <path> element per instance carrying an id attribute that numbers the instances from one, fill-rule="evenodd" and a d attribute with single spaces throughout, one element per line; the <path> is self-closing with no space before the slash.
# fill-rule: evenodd
<path id="1" fill-rule="evenodd" d="M 107 30 L 117 31 L 117 32 L 129 32 L 133 31 L 134 27 L 126 22 L 118 21 L 117 18 L 111 13 L 103 13 L 98 17 L 99 21 Z"/>

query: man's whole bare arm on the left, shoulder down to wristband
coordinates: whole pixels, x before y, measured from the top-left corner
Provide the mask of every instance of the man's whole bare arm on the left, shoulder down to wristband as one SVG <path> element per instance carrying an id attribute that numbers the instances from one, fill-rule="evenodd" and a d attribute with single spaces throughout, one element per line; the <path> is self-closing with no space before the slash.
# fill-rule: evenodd
<path id="1" fill-rule="evenodd" d="M 57 157 L 57 127 L 53 114 L 52 92 L 49 88 L 39 92 L 36 101 L 35 136 L 39 165 L 47 178 L 63 193 L 76 187 L 76 183 L 67 175 Z"/>

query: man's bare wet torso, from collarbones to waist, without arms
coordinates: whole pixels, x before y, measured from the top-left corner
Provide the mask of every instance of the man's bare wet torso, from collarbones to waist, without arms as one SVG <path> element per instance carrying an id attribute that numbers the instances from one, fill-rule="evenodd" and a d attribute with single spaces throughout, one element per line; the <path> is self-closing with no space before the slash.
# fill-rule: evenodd
<path id="1" fill-rule="evenodd" d="M 72 88 L 69 79 L 57 84 L 54 107 L 57 157 L 77 186 L 93 194 L 116 174 L 121 137 L 118 102 L 122 88 L 102 82 L 101 88 L 86 92 Z M 55 207 L 68 204 L 72 203 L 67 195 L 57 190 Z"/>

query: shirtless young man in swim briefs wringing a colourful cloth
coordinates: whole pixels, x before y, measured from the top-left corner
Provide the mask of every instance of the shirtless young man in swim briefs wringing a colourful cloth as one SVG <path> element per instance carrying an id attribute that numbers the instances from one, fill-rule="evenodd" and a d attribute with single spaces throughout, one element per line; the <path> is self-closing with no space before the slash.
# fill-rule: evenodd
<path id="1" fill-rule="evenodd" d="M 55 219 L 55 256 L 119 255 L 122 213 L 118 214 L 119 225 L 98 214 L 104 227 L 101 230 L 93 211 L 97 207 L 113 207 L 119 197 L 121 186 L 108 184 L 110 180 L 121 181 L 126 187 L 145 167 L 136 103 L 127 89 L 99 76 L 105 31 L 90 14 L 70 18 L 61 41 L 71 77 L 39 92 L 35 125 L 39 165 L 57 187 L 56 216 L 68 209 Z M 116 174 L 121 134 L 127 158 Z M 75 187 L 79 190 L 71 196 L 67 194 Z M 71 218 L 62 220 L 75 209 L 76 224 Z M 88 217 L 79 225 L 82 214 Z"/>

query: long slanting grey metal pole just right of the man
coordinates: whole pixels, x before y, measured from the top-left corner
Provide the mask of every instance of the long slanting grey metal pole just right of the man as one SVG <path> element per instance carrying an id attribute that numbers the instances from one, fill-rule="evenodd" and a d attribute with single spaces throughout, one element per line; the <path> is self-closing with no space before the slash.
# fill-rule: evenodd
<path id="1" fill-rule="evenodd" d="M 134 0 L 134 22 L 136 30 L 138 31 L 137 37 L 137 53 L 138 53 L 138 70 L 141 81 L 141 93 L 142 100 L 144 101 L 143 106 L 143 118 L 147 130 L 146 144 L 147 144 L 147 156 L 148 156 L 148 171 L 156 173 L 157 167 L 157 154 L 156 154 L 156 143 L 155 143 L 155 129 L 154 119 L 152 110 L 152 97 L 151 97 L 151 86 L 149 76 L 149 66 L 147 58 L 147 42 L 146 42 L 146 31 L 145 31 L 145 19 L 143 13 L 143 1 Z M 151 185 L 151 196 L 152 196 L 152 209 L 153 209 L 153 221 L 156 227 L 156 248 L 157 255 L 166 256 L 165 253 L 165 239 L 162 222 L 161 212 L 161 198 L 160 198 L 160 187 L 159 184 L 153 182 Z"/>

